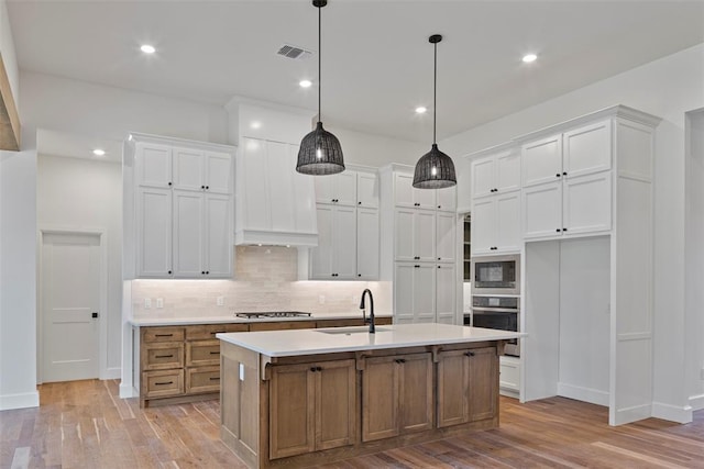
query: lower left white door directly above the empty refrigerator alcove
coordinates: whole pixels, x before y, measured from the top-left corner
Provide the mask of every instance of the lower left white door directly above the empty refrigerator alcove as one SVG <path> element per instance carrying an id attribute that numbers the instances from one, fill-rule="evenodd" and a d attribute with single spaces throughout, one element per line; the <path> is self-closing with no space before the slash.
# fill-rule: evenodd
<path id="1" fill-rule="evenodd" d="M 522 191 L 524 237 L 562 234 L 562 181 L 532 186 Z M 474 226 L 472 226 L 474 230 Z"/>

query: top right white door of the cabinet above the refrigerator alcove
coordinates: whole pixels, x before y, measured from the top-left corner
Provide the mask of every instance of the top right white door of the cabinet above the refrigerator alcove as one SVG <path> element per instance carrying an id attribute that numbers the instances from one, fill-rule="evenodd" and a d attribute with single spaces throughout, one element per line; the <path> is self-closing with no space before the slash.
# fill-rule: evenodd
<path id="1" fill-rule="evenodd" d="M 562 170 L 568 178 L 612 168 L 612 121 L 565 132 Z"/>

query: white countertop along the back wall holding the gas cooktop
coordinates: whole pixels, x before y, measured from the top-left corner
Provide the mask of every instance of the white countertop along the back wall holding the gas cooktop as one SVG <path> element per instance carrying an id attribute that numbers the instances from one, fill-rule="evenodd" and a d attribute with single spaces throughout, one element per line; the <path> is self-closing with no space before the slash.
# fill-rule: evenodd
<path id="1" fill-rule="evenodd" d="M 375 317 L 392 317 L 392 313 L 374 313 Z M 362 319 L 362 311 L 353 313 L 311 313 L 310 316 L 295 317 L 238 317 L 229 316 L 193 316 L 193 317 L 140 317 L 131 319 L 129 323 L 138 327 L 146 326 L 180 326 L 190 324 L 235 324 L 235 323 L 271 323 L 276 321 L 317 321 L 317 320 L 354 320 Z"/>

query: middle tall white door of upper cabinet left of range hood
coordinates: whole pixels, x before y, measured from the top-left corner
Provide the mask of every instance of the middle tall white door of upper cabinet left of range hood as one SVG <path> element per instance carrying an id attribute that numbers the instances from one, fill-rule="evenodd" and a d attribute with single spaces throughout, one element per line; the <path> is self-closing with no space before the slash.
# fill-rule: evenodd
<path id="1" fill-rule="evenodd" d="M 202 193 L 174 190 L 174 277 L 206 278 Z"/>

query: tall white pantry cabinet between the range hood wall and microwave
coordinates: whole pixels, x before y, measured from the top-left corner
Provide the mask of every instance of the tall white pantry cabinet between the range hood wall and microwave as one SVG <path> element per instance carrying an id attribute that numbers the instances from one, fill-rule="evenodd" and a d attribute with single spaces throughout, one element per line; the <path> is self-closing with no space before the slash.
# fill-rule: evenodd
<path id="1" fill-rule="evenodd" d="M 394 323 L 458 321 L 457 189 L 415 189 L 414 168 L 382 178 L 382 280 L 393 281 Z"/>

